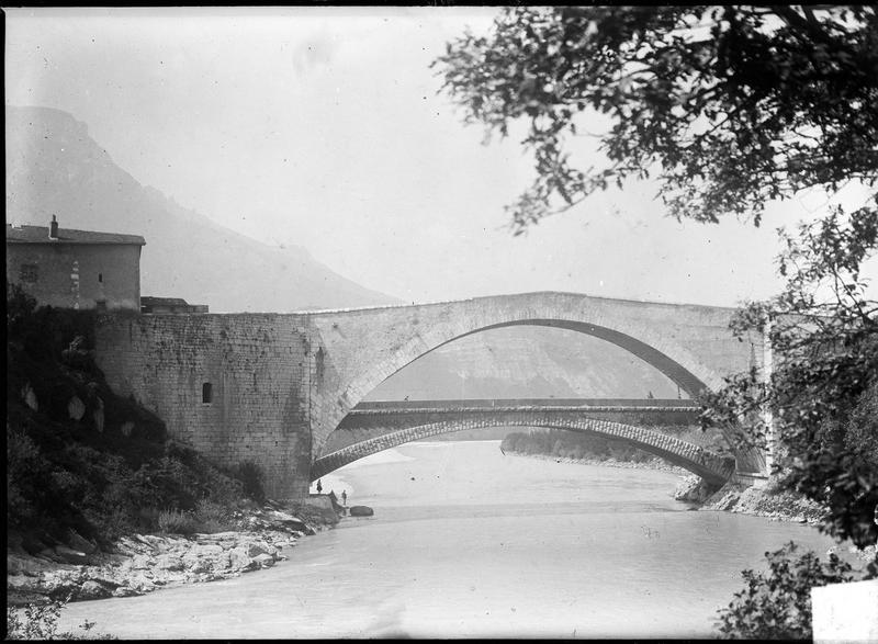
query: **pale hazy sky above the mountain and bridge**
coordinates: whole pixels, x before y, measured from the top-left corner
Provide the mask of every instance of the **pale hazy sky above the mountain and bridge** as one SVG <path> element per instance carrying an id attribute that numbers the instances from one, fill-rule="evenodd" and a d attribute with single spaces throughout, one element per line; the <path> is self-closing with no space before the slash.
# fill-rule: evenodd
<path id="1" fill-rule="evenodd" d="M 503 206 L 531 177 L 520 136 L 482 145 L 429 69 L 494 8 L 5 11 L 8 104 L 70 112 L 140 183 L 406 301 L 734 305 L 778 289 L 774 228 L 825 201 L 780 204 L 759 229 L 679 224 L 631 184 L 514 238 Z M 589 165 L 593 144 L 577 145 Z"/>

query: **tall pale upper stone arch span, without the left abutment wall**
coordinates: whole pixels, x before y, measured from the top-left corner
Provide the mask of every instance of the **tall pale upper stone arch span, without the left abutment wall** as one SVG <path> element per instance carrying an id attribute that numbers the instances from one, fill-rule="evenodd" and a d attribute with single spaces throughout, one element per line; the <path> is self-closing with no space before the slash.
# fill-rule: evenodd
<path id="1" fill-rule="evenodd" d="M 368 334 L 349 335 L 344 314 L 315 317 L 328 355 L 354 353 L 356 359 L 353 364 L 336 360 L 337 388 L 312 410 L 314 457 L 324 454 L 348 411 L 384 380 L 439 347 L 491 329 L 542 326 L 600 338 L 644 360 L 693 398 L 721 386 L 724 375 L 752 366 L 755 354 L 729 331 L 732 309 L 718 307 L 530 293 L 348 313 L 357 314 L 350 320 L 357 326 L 373 323 Z M 743 471 L 762 467 L 756 451 L 736 456 Z"/>

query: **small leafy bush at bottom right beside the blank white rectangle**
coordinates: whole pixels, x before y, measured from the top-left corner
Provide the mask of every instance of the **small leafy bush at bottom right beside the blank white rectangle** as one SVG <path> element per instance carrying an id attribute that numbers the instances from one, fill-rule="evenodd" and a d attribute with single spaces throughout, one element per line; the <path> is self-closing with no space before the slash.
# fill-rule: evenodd
<path id="1" fill-rule="evenodd" d="M 851 565 L 834 554 L 821 563 L 813 552 L 797 555 L 793 542 L 765 553 L 767 573 L 743 570 L 746 587 L 719 611 L 728 640 L 810 640 L 811 588 L 851 581 Z"/>

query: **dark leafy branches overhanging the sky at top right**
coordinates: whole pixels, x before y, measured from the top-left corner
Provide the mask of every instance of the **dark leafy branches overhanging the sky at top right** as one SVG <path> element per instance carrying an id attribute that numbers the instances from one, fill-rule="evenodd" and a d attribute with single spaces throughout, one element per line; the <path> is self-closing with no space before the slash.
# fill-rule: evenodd
<path id="1" fill-rule="evenodd" d="M 655 176 L 672 215 L 758 224 L 765 202 L 874 184 L 878 14 L 870 7 L 509 7 L 434 61 L 489 137 L 527 123 L 536 179 L 516 234 L 596 190 Z M 574 167 L 583 117 L 603 169 Z"/>

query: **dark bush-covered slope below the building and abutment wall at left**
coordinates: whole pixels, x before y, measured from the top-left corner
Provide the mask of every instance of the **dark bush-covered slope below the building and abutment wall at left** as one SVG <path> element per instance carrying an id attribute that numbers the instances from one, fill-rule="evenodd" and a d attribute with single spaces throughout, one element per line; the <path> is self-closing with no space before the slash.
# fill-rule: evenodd
<path id="1" fill-rule="evenodd" d="M 93 361 L 94 321 L 94 312 L 37 308 L 7 284 L 8 530 L 36 554 L 71 531 L 109 545 L 162 529 L 162 511 L 227 528 L 229 508 L 264 498 L 258 467 L 212 465 L 113 394 Z"/>

